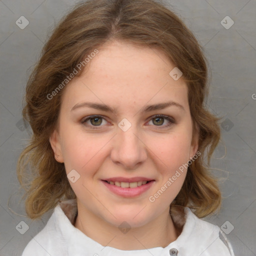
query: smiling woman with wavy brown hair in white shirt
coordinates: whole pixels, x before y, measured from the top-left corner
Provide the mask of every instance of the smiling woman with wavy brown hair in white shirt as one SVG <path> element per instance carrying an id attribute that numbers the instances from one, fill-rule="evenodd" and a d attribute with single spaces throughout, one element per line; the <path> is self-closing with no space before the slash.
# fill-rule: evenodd
<path id="1" fill-rule="evenodd" d="M 233 255 L 200 219 L 221 202 L 203 160 L 220 137 L 206 96 L 200 46 L 162 4 L 75 6 L 27 83 L 18 178 L 30 218 L 54 212 L 22 255 Z"/>

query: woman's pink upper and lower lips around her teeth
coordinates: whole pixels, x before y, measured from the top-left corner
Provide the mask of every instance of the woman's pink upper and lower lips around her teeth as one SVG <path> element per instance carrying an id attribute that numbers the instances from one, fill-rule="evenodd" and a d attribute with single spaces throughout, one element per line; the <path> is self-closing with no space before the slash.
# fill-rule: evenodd
<path id="1" fill-rule="evenodd" d="M 138 179 L 140 178 L 140 179 Z M 143 178 L 143 179 L 141 179 Z M 127 180 L 131 180 L 131 181 L 127 181 Z M 142 180 L 146 180 L 149 181 L 146 184 L 137 186 L 137 187 L 120 187 L 120 186 L 116 186 L 116 185 L 112 185 L 112 184 L 108 184 L 105 180 L 101 179 L 101 182 L 114 194 L 117 194 L 119 196 L 122 197 L 135 197 L 138 195 L 141 195 L 142 193 L 144 193 L 145 191 L 147 191 L 152 184 L 155 182 L 155 180 L 152 179 L 147 179 L 144 177 L 134 177 L 134 178 L 123 178 L 123 177 L 118 177 L 117 179 L 112 178 L 111 179 L 107 179 L 107 181 L 119 181 L 119 182 L 135 182 L 135 181 L 142 181 Z"/>

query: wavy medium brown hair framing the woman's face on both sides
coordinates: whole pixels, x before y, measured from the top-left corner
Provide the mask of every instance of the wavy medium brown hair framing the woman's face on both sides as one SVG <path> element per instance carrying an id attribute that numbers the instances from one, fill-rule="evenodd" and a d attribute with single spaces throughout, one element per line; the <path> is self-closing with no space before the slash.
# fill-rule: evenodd
<path id="1" fill-rule="evenodd" d="M 182 71 L 188 87 L 193 134 L 196 125 L 198 127 L 201 155 L 189 165 L 171 207 L 188 206 L 198 217 L 213 213 L 220 207 L 221 195 L 207 167 L 219 141 L 220 129 L 219 118 L 205 107 L 208 71 L 201 46 L 183 21 L 162 2 L 87 0 L 76 5 L 59 22 L 27 82 L 22 114 L 33 133 L 17 163 L 17 177 L 26 191 L 27 215 L 39 218 L 54 208 L 59 199 L 76 198 L 64 163 L 55 160 L 49 143 L 57 124 L 64 88 L 51 99 L 47 95 L 84 60 L 84 56 L 110 40 L 162 50 Z"/>

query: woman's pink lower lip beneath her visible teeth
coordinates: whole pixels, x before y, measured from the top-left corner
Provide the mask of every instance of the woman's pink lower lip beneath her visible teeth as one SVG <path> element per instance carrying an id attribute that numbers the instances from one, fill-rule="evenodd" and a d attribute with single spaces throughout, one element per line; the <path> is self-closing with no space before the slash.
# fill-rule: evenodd
<path id="1" fill-rule="evenodd" d="M 108 184 L 106 181 L 103 181 L 103 184 L 113 193 L 123 196 L 123 197 L 134 197 L 134 196 L 138 196 L 142 193 L 144 193 L 146 190 L 148 190 L 151 185 L 153 184 L 154 180 L 149 181 L 146 184 L 137 186 L 137 187 L 120 187 L 120 186 L 116 186 L 116 185 L 112 185 L 112 184 Z"/>

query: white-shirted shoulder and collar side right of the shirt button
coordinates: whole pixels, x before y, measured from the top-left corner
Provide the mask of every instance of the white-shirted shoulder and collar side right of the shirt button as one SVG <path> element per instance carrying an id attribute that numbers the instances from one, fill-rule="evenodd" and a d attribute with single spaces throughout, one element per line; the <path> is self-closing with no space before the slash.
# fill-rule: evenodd
<path id="1" fill-rule="evenodd" d="M 185 207 L 185 223 L 176 241 L 179 246 L 185 246 L 186 253 L 191 255 L 234 255 L 222 230 L 217 225 L 199 219 L 188 207 Z"/>

